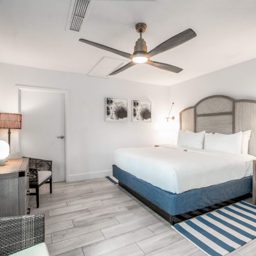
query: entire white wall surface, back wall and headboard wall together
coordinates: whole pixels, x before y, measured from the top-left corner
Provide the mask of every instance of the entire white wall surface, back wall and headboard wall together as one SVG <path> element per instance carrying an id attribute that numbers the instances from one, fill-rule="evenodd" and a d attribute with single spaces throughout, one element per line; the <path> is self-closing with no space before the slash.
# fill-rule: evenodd
<path id="1" fill-rule="evenodd" d="M 110 174 L 113 151 L 118 147 L 153 146 L 170 143 L 177 132 L 170 132 L 164 118 L 175 102 L 173 112 L 177 126 L 179 112 L 200 99 L 223 94 L 235 99 L 256 99 L 256 59 L 209 73 L 170 87 L 106 79 L 27 68 L 0 63 L 0 112 L 17 112 L 17 87 L 48 87 L 70 93 L 70 180 Z M 104 121 L 106 96 L 127 98 L 129 122 Z M 131 100 L 152 101 L 152 123 L 131 122 Z M 22 133 L 22 130 L 20 131 Z M 12 130 L 12 151 L 16 151 L 18 132 Z M 0 139 L 7 140 L 7 131 L 0 130 Z"/>

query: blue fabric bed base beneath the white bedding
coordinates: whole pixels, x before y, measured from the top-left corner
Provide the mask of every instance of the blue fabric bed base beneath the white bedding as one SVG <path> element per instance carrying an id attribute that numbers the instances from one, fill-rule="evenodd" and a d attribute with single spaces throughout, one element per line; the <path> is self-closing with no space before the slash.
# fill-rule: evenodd
<path id="1" fill-rule="evenodd" d="M 157 206 L 170 216 L 185 214 L 189 211 L 242 197 L 250 194 L 252 191 L 251 176 L 218 185 L 189 190 L 181 194 L 170 193 L 153 186 L 125 172 L 116 165 L 113 165 L 113 176 L 118 179 L 119 185 L 123 186 L 134 196 L 137 196 L 140 201 L 143 202 L 141 198 L 145 199 L 148 203 Z M 143 203 L 147 204 L 147 202 Z"/>

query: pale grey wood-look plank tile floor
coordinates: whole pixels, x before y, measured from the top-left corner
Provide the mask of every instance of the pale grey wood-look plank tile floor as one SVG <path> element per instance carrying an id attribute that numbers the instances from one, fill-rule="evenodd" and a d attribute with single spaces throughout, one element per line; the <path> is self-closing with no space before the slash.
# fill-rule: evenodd
<path id="1" fill-rule="evenodd" d="M 105 178 L 53 183 L 52 194 L 49 184 L 44 184 L 39 193 L 39 208 L 35 196 L 30 197 L 31 214 L 45 214 L 45 240 L 51 255 L 205 255 L 167 221 Z M 256 241 L 229 255 L 256 255 Z"/>

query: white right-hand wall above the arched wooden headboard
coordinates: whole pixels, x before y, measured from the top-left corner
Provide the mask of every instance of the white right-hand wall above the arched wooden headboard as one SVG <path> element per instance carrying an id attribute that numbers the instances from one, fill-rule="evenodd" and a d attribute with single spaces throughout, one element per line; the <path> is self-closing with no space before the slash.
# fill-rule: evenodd
<path id="1" fill-rule="evenodd" d="M 200 99 L 222 94 L 234 99 L 256 100 L 256 59 L 218 70 L 169 87 L 169 101 L 175 102 L 173 114 L 195 105 Z M 173 133 L 176 137 L 177 133 Z"/>

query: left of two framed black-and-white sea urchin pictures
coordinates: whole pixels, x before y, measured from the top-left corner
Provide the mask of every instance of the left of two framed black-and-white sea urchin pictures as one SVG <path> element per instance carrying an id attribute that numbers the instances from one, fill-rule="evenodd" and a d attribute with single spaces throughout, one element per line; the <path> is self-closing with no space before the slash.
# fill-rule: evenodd
<path id="1" fill-rule="evenodd" d="M 106 121 L 127 122 L 127 99 L 106 98 Z"/>

